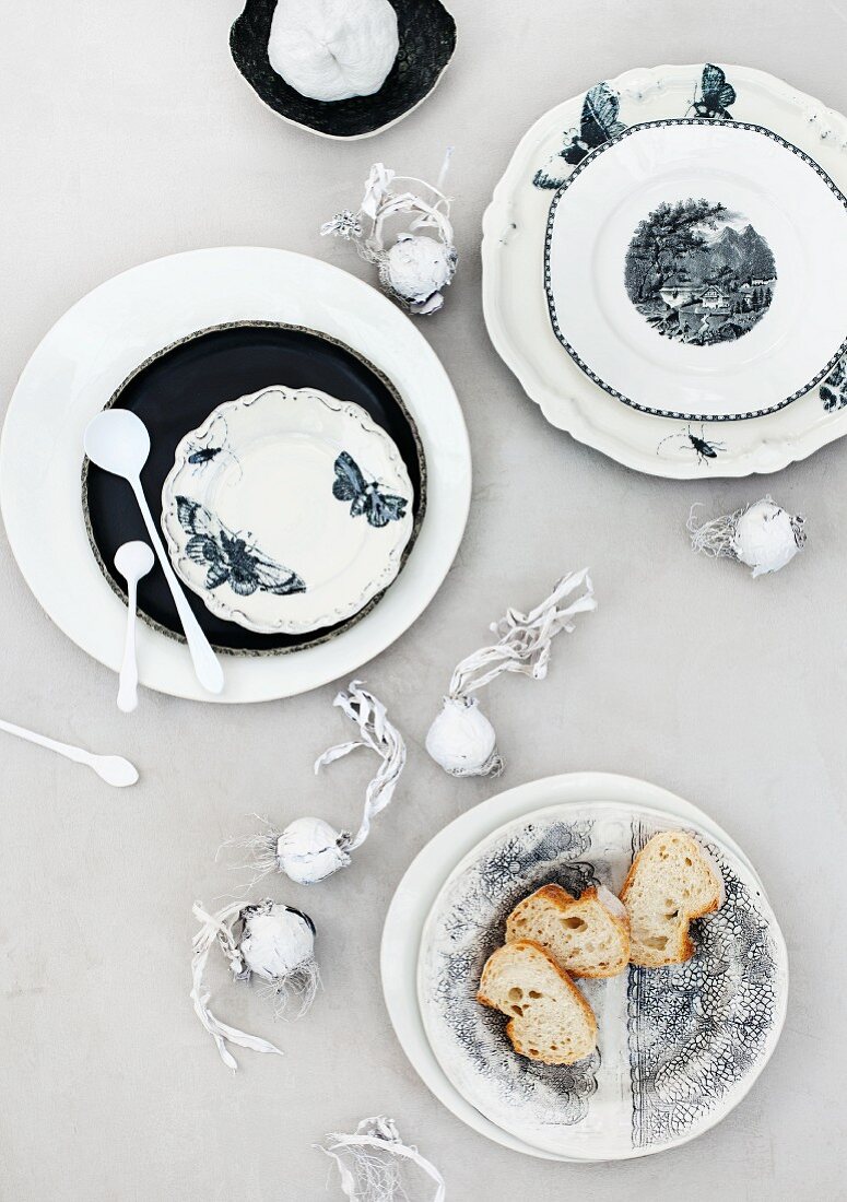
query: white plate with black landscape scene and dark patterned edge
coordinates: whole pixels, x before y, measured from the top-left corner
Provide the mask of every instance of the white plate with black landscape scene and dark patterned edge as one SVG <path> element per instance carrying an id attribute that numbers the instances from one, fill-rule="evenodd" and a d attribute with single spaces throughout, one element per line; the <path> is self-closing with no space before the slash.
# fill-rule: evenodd
<path id="1" fill-rule="evenodd" d="M 760 126 L 636 125 L 553 197 L 544 278 L 556 338 L 618 400 L 758 417 L 847 350 L 847 198 Z"/>

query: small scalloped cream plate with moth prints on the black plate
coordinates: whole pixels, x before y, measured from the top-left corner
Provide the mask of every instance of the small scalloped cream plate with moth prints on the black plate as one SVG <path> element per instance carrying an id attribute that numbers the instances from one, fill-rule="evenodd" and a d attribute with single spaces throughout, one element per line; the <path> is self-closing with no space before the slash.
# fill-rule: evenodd
<path id="1" fill-rule="evenodd" d="M 177 575 L 263 633 L 344 621 L 398 575 L 412 483 L 364 409 L 311 388 L 219 405 L 177 447 L 162 528 Z"/>

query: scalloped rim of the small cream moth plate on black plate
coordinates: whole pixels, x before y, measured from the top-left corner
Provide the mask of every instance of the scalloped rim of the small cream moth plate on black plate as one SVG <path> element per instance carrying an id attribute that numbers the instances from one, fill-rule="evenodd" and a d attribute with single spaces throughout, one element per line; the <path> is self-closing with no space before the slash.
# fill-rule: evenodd
<path id="1" fill-rule="evenodd" d="M 374 422 L 374 419 L 370 417 L 368 411 L 362 405 L 357 405 L 354 401 L 350 400 L 341 400 L 340 398 L 333 397 L 320 388 L 311 388 L 309 386 L 302 388 L 292 388 L 288 385 L 266 385 L 264 388 L 258 388 L 256 392 L 245 393 L 243 397 L 234 397 L 232 400 L 221 401 L 221 404 L 216 405 L 211 410 L 211 412 L 207 413 L 207 416 L 203 418 L 199 426 L 197 426 L 193 430 L 189 430 L 187 434 L 183 435 L 177 447 L 177 456 L 174 458 L 173 468 L 165 477 L 165 483 L 162 484 L 162 513 L 161 513 L 160 525 L 165 534 L 168 557 L 171 559 L 171 563 L 173 564 L 174 571 L 179 576 L 180 581 L 185 584 L 185 587 L 191 589 L 191 591 L 195 593 L 203 601 L 203 605 L 205 605 L 207 608 L 209 608 L 213 613 L 217 614 L 217 617 L 222 618 L 225 621 L 234 621 L 237 625 L 244 626 L 246 630 L 251 630 L 253 633 L 300 635 L 300 633 L 309 633 L 310 629 L 322 630 L 328 625 L 335 625 L 336 623 L 346 621 L 348 618 L 354 618 L 359 613 L 359 611 L 368 605 L 371 597 L 376 596 L 377 594 L 381 595 L 382 593 L 384 593 L 384 590 L 396 579 L 400 567 L 402 566 L 404 553 L 412 537 L 412 531 L 414 529 L 414 520 L 412 520 L 408 537 L 406 538 L 406 541 L 402 543 L 402 546 L 395 543 L 392 547 L 388 554 L 388 560 L 383 566 L 382 571 L 375 579 L 371 579 L 369 582 L 369 584 L 363 589 L 359 596 L 352 601 L 348 601 L 345 606 L 340 608 L 340 611 L 320 614 L 320 617 L 316 618 L 306 630 L 299 629 L 300 627 L 299 623 L 294 623 L 294 625 L 292 626 L 291 623 L 286 621 L 282 625 L 275 626 L 273 630 L 268 630 L 268 629 L 260 629 L 246 620 L 239 621 L 238 618 L 235 618 L 234 615 L 239 614 L 240 617 L 246 619 L 246 614 L 244 614 L 243 611 L 240 611 L 237 606 L 229 605 L 217 593 L 214 593 L 209 589 L 204 589 L 198 584 L 196 584 L 193 581 L 189 581 L 189 578 L 184 575 L 181 567 L 181 565 L 185 561 L 185 554 L 184 554 L 185 548 L 177 541 L 177 537 L 172 530 L 173 504 L 174 504 L 173 488 L 177 477 L 187 466 L 184 446 L 190 439 L 195 438 L 199 440 L 203 435 L 205 435 L 213 422 L 215 422 L 221 413 L 229 415 L 235 410 L 249 410 L 257 401 L 262 400 L 263 397 L 267 397 L 269 393 L 275 393 L 275 392 L 297 393 L 298 395 L 310 397 L 317 400 L 318 404 L 323 405 L 326 409 L 330 410 L 333 413 L 348 417 L 351 421 L 357 423 L 359 429 L 362 429 L 365 434 L 374 435 L 380 442 L 384 445 L 388 459 L 393 463 L 394 469 L 399 474 L 401 474 L 405 477 L 405 480 L 408 480 L 406 464 L 404 463 L 402 456 L 400 454 L 396 444 L 388 435 L 388 433 L 383 430 L 381 426 L 377 426 L 377 423 Z M 414 489 L 412 487 L 411 480 L 408 480 L 408 487 L 410 492 L 413 494 Z"/>

